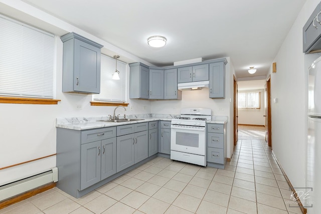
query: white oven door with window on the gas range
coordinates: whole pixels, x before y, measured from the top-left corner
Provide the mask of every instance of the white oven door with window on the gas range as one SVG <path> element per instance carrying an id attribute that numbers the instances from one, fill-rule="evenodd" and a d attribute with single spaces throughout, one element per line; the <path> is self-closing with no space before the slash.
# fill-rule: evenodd
<path id="1" fill-rule="evenodd" d="M 205 155 L 205 127 L 171 125 L 171 150 Z"/>

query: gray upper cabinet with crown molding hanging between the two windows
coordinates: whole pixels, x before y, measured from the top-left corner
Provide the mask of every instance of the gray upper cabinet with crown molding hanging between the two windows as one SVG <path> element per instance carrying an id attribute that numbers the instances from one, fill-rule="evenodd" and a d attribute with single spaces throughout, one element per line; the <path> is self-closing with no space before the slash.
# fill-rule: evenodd
<path id="1" fill-rule="evenodd" d="M 78 34 L 61 37 L 63 42 L 63 92 L 100 93 L 102 45 Z"/>

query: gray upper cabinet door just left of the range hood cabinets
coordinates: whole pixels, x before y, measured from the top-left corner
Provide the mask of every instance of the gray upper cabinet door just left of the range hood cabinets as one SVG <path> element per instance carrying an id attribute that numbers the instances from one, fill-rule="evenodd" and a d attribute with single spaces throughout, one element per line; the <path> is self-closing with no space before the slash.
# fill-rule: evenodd
<path id="1" fill-rule="evenodd" d="M 164 72 L 164 99 L 178 99 L 177 68 Z"/>

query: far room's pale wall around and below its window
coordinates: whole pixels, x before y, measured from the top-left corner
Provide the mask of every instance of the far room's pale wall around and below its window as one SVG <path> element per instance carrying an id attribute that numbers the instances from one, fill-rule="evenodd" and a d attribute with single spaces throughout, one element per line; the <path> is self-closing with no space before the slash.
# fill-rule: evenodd
<path id="1" fill-rule="evenodd" d="M 263 125 L 264 126 L 264 90 L 255 90 L 260 91 L 260 105 L 259 110 L 254 111 L 238 111 L 238 124 L 247 124 L 247 125 Z M 239 90 L 239 92 L 242 92 Z"/>

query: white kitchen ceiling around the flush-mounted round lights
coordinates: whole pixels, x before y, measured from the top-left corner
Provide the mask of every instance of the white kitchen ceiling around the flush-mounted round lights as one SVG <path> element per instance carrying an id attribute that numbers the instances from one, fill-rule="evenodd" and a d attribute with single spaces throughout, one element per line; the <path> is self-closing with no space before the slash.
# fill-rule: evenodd
<path id="1" fill-rule="evenodd" d="M 230 57 L 240 78 L 267 74 L 305 0 L 23 2 L 155 66 Z M 149 47 L 147 38 L 155 35 L 166 37 L 167 45 Z"/>

